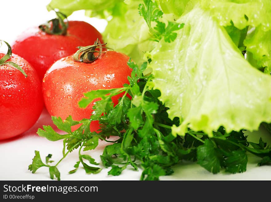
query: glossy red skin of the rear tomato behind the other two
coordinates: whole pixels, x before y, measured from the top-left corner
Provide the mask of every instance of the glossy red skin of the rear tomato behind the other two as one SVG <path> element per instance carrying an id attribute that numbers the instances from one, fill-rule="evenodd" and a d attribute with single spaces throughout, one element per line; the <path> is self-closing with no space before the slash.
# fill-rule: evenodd
<path id="1" fill-rule="evenodd" d="M 38 72 L 40 81 L 46 70 L 57 60 L 78 50 L 78 46 L 89 46 L 102 35 L 93 26 L 83 21 L 69 21 L 67 35 L 46 34 L 32 27 L 22 33 L 12 45 L 13 53 L 26 59 Z"/>

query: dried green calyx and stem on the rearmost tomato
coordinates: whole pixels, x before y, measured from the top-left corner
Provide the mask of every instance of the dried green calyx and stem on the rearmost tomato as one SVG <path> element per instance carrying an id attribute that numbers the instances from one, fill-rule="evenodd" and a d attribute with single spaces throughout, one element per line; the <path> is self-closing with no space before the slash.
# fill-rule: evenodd
<path id="1" fill-rule="evenodd" d="M 69 24 L 68 20 L 64 22 L 64 19 L 67 19 L 67 16 L 59 11 L 55 11 L 55 14 L 57 15 L 56 18 L 38 26 L 38 28 L 47 34 L 66 35 Z"/>

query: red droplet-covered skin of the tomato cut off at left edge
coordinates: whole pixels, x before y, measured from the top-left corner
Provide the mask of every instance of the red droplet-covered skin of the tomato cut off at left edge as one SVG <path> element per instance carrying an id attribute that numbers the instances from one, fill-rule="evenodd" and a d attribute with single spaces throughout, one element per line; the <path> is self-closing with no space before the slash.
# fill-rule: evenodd
<path id="1" fill-rule="evenodd" d="M 4 55 L 0 53 L 0 58 Z M 27 77 L 15 67 L 0 66 L 0 140 L 30 129 L 43 109 L 41 82 L 35 69 L 15 54 L 8 61 L 20 65 Z"/>

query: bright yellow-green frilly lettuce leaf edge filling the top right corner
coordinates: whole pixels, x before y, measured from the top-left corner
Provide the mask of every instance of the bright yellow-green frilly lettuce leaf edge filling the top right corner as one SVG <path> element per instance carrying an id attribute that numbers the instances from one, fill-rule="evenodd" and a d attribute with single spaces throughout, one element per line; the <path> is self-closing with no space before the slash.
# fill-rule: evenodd
<path id="1" fill-rule="evenodd" d="M 240 30 L 249 25 L 271 29 L 270 0 L 201 0 L 201 6 L 210 10 L 221 26 L 230 26 L 232 21 Z"/>

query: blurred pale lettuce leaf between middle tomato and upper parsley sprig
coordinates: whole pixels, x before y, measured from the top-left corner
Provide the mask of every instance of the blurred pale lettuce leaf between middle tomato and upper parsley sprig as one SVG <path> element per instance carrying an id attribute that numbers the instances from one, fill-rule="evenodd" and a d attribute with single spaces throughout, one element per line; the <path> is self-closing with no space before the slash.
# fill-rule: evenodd
<path id="1" fill-rule="evenodd" d="M 144 52 L 152 50 L 157 44 L 149 40 L 149 28 L 138 13 L 140 3 L 142 1 L 126 3 L 121 15 L 114 16 L 103 33 L 107 47 L 125 53 L 139 64 L 143 62 Z"/>

